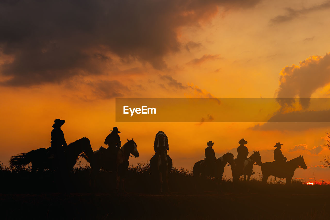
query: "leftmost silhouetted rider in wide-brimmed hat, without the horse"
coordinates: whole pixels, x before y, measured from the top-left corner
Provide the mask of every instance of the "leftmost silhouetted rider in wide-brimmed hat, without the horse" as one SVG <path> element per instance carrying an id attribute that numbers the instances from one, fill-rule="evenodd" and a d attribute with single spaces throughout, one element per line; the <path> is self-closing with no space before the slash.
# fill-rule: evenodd
<path id="1" fill-rule="evenodd" d="M 64 133 L 61 130 L 61 127 L 64 124 L 64 122 L 65 122 L 64 120 L 60 120 L 59 118 L 55 119 L 54 124 L 52 126 L 54 129 L 50 133 L 51 135 L 50 147 L 55 153 L 55 157 L 57 158 L 62 155 L 65 148 L 68 146 L 64 139 Z"/>

